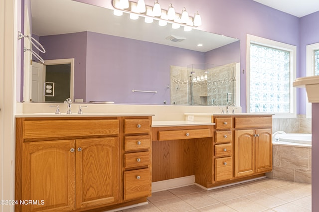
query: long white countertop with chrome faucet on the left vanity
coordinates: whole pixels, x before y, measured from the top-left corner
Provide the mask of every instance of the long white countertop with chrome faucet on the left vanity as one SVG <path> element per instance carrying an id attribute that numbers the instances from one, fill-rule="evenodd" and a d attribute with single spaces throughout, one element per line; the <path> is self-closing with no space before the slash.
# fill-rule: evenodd
<path id="1" fill-rule="evenodd" d="M 55 114 L 55 113 L 17 113 L 15 114 L 16 118 L 26 118 L 26 117 L 114 117 L 114 116 L 154 116 L 154 114 L 146 113 L 83 113 L 83 114 Z"/>

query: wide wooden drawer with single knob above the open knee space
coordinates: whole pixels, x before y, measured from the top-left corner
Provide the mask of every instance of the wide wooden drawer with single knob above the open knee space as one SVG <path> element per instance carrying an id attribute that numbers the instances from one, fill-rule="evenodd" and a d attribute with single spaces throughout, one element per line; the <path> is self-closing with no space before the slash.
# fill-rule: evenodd
<path id="1" fill-rule="evenodd" d="M 210 129 L 159 131 L 159 141 L 211 137 Z"/>

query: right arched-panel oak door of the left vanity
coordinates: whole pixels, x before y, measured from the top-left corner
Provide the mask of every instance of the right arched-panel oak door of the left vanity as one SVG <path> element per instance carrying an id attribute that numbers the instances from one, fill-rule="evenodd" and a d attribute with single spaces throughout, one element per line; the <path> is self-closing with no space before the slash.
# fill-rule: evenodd
<path id="1" fill-rule="evenodd" d="M 119 151 L 116 137 L 76 140 L 76 209 L 120 201 Z"/>

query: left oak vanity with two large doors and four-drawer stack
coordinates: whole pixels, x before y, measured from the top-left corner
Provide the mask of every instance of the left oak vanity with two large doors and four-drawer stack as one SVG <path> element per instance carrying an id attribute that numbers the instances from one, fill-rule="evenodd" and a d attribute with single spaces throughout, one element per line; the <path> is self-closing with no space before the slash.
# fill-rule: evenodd
<path id="1" fill-rule="evenodd" d="M 152 191 L 150 114 L 16 118 L 15 211 L 106 211 Z"/>

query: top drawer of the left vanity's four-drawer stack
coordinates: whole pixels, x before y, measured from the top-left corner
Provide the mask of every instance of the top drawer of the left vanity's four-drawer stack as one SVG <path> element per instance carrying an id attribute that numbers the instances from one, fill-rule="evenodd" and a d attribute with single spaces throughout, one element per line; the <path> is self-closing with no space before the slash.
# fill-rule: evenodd
<path id="1" fill-rule="evenodd" d="M 151 121 L 150 119 L 125 119 L 124 133 L 150 133 Z"/>

